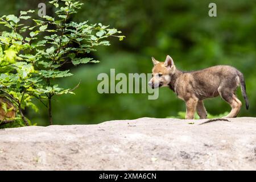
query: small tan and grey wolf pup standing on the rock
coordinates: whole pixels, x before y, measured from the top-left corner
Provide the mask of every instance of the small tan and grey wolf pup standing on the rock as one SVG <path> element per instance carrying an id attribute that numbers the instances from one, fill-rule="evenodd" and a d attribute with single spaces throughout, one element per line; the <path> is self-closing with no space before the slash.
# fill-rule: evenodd
<path id="1" fill-rule="evenodd" d="M 169 86 L 177 97 L 186 103 L 186 119 L 193 119 L 195 111 L 200 119 L 207 118 L 203 100 L 221 96 L 231 106 L 232 110 L 224 118 L 234 118 L 239 113 L 242 102 L 236 96 L 237 87 L 241 85 L 246 109 L 249 101 L 246 95 L 245 79 L 236 68 L 228 65 L 217 65 L 200 71 L 183 72 L 175 67 L 170 56 L 164 62 L 152 57 L 154 68 L 148 84 L 152 88 Z"/>

